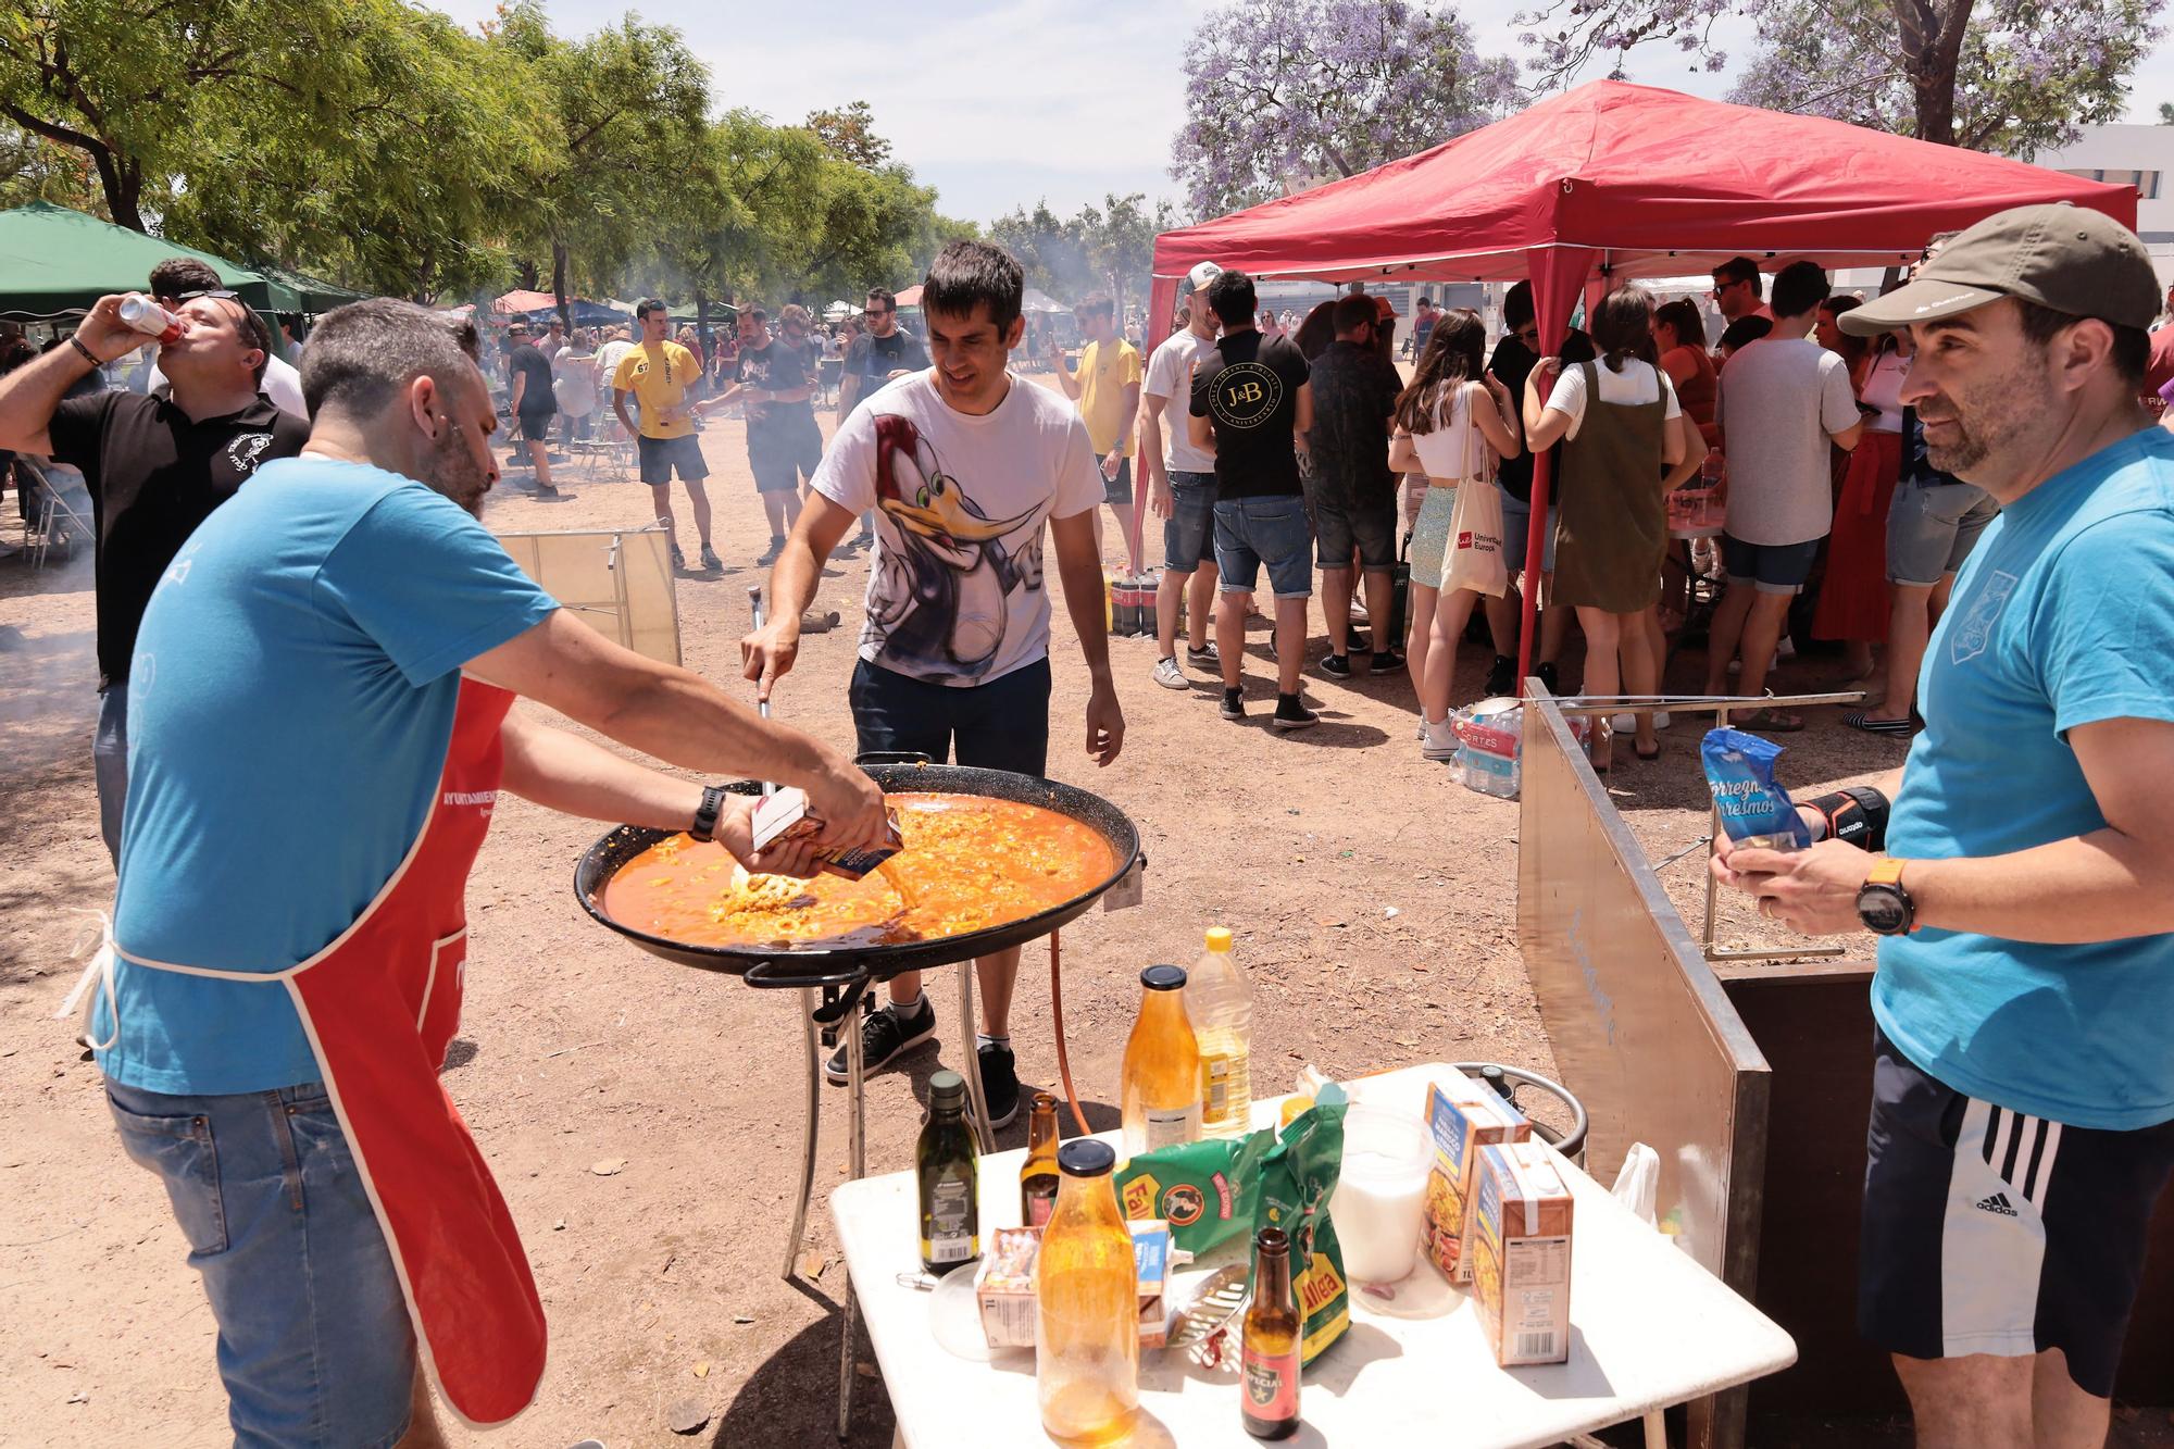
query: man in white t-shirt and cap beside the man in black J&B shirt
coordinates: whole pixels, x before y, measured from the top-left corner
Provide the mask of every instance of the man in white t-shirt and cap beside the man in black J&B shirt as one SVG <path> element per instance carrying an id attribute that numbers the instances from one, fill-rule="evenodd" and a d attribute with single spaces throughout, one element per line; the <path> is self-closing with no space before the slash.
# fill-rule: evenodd
<path id="1" fill-rule="evenodd" d="M 1209 307 L 1209 283 L 1222 268 L 1202 261 L 1178 281 L 1185 326 L 1170 333 L 1148 357 L 1148 379 L 1139 385 L 1139 461 L 1148 472 L 1148 507 L 1163 520 L 1163 581 L 1154 590 L 1154 683 L 1191 690 L 1178 668 L 1178 600 L 1185 600 L 1185 661 L 1196 670 L 1222 672 L 1222 655 L 1209 637 L 1209 607 L 1215 603 L 1215 455 L 1194 444 L 1185 426 L 1194 400 L 1194 368 L 1215 357 L 1222 322 Z M 1180 403 L 1176 422 L 1163 413 Z"/>

